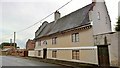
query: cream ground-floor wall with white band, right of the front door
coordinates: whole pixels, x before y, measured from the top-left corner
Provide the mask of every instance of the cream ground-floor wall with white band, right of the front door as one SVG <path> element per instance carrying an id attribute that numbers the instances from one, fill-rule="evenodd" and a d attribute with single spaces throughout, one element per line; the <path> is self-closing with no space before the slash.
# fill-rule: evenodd
<path id="1" fill-rule="evenodd" d="M 57 58 L 52 57 L 52 50 L 57 50 Z M 72 50 L 80 50 L 79 59 L 72 59 Z M 68 57 L 69 56 L 69 57 Z M 67 47 L 67 48 L 48 48 L 48 59 L 56 59 L 72 62 L 83 62 L 98 64 L 97 47 Z"/>

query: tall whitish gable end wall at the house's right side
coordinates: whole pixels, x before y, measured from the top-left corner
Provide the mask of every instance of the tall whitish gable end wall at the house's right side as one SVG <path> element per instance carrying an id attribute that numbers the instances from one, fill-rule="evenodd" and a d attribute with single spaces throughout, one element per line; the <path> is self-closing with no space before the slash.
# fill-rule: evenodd
<path id="1" fill-rule="evenodd" d="M 111 22 L 104 2 L 96 2 L 89 15 L 90 21 L 93 22 L 94 35 L 111 32 Z"/>

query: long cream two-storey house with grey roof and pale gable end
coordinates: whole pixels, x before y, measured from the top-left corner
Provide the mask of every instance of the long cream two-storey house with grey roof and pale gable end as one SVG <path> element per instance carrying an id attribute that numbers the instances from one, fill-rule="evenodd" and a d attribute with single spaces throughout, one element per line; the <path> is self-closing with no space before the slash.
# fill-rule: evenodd
<path id="1" fill-rule="evenodd" d="M 95 36 L 111 32 L 105 2 L 93 2 L 66 16 L 54 13 L 35 32 L 35 50 L 29 56 L 98 64 Z M 103 43 L 104 44 L 104 43 Z"/>

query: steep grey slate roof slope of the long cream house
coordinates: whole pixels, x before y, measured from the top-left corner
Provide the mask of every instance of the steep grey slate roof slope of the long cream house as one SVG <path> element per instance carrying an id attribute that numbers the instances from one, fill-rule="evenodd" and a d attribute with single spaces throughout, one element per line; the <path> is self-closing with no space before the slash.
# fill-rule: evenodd
<path id="1" fill-rule="evenodd" d="M 36 36 L 36 38 L 90 24 L 89 11 L 93 8 L 93 6 L 94 3 L 91 3 L 58 19 L 57 21 L 48 23 L 45 28 L 39 33 L 39 35 Z M 38 29 L 38 31 L 39 30 L 41 29 Z"/>

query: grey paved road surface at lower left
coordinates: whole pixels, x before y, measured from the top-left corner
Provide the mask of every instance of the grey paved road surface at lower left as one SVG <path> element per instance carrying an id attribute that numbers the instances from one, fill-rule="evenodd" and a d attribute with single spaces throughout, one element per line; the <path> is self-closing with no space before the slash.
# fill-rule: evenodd
<path id="1" fill-rule="evenodd" d="M 0 56 L 0 59 L 2 60 L 2 66 L 58 66 L 14 56 Z"/>

